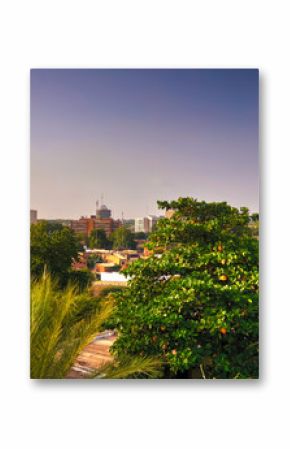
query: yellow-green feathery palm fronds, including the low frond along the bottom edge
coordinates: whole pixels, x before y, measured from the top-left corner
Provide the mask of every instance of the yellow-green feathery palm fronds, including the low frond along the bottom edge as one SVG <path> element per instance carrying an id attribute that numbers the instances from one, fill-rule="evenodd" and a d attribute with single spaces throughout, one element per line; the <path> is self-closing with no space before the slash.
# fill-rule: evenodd
<path id="1" fill-rule="evenodd" d="M 33 379 L 62 379 L 76 357 L 98 334 L 112 313 L 109 298 L 77 294 L 74 286 L 60 291 L 49 275 L 31 286 L 30 375 Z M 92 377 L 156 377 L 160 363 L 154 358 L 115 358 Z"/>

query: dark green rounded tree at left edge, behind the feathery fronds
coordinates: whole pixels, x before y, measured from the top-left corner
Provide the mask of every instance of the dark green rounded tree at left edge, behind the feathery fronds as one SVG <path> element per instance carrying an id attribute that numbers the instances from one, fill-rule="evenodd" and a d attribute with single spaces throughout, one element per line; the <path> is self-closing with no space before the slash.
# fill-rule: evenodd
<path id="1" fill-rule="evenodd" d="M 59 279 L 66 277 L 78 258 L 79 239 L 68 227 L 42 221 L 31 225 L 31 274 L 40 277 L 46 268 Z"/>

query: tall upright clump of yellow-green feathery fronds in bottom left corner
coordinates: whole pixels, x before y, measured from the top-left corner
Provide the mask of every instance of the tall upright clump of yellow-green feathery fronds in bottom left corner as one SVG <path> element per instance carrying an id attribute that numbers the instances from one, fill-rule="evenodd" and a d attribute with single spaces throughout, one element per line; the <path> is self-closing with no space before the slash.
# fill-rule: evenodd
<path id="1" fill-rule="evenodd" d="M 31 378 L 65 377 L 78 354 L 112 313 L 112 305 L 103 301 L 97 311 L 76 319 L 85 301 L 86 295 L 77 294 L 74 286 L 58 290 L 49 275 L 32 283 Z"/>

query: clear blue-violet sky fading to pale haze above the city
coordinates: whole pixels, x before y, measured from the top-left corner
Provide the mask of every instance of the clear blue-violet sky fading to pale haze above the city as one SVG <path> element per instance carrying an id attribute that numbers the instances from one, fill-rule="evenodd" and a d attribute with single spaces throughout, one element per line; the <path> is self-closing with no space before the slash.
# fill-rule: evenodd
<path id="1" fill-rule="evenodd" d="M 256 69 L 32 69 L 31 209 L 120 218 L 191 196 L 259 209 Z"/>

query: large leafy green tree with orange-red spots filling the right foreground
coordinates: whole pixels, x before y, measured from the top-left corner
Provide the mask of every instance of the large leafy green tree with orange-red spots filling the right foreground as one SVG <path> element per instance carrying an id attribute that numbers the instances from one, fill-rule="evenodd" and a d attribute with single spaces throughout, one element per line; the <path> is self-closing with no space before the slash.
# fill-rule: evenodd
<path id="1" fill-rule="evenodd" d="M 258 376 L 258 241 L 247 208 L 180 198 L 118 294 L 116 354 L 159 356 L 165 377 Z"/>

